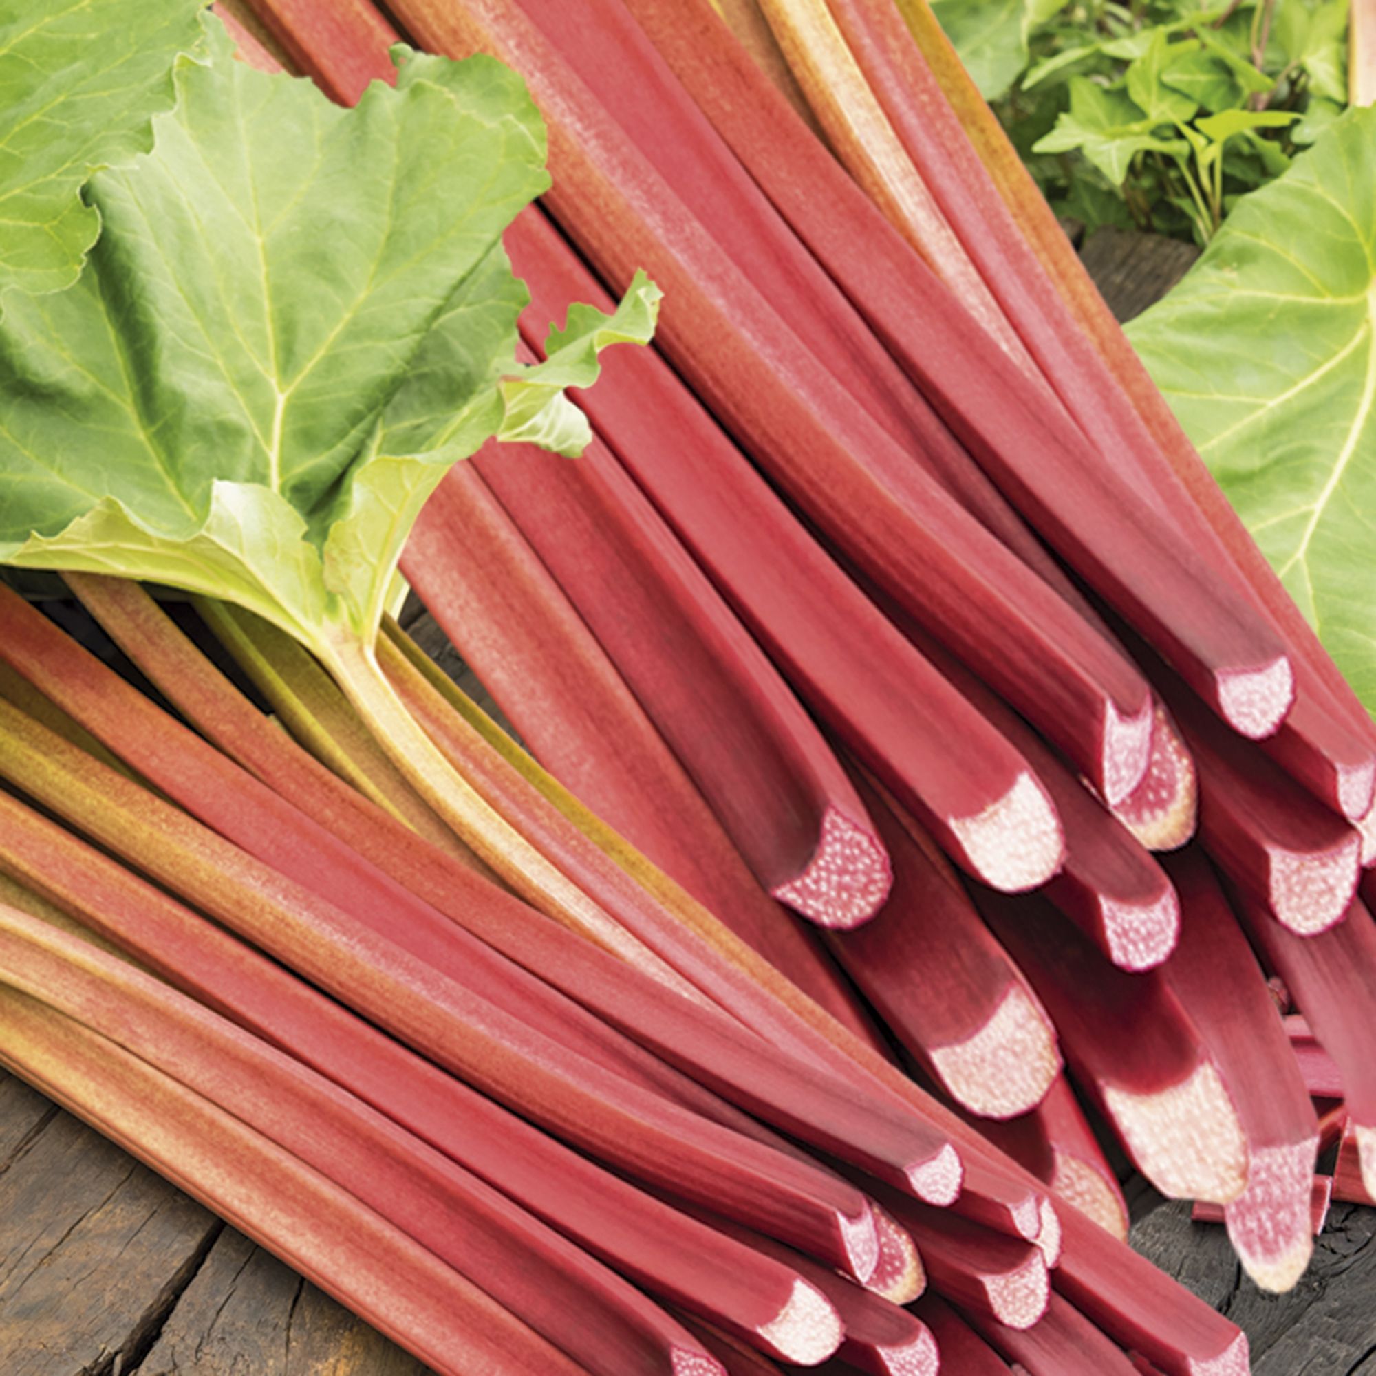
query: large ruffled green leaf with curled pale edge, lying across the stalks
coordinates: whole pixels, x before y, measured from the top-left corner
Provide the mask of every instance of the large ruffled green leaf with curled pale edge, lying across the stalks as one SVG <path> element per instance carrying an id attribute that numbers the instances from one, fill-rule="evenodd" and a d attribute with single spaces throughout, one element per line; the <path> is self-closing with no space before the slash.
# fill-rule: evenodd
<path id="1" fill-rule="evenodd" d="M 92 179 L 78 283 L 0 325 L 0 560 L 367 637 L 444 469 L 494 435 L 577 450 L 556 374 L 647 338 L 658 293 L 522 369 L 499 238 L 548 176 L 519 77 L 413 55 L 344 110 L 226 48 Z"/>

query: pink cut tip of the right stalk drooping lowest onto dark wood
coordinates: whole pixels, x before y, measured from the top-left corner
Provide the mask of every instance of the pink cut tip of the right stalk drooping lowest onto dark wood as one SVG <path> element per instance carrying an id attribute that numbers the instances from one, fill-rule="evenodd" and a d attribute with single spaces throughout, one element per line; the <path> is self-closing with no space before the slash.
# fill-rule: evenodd
<path id="1" fill-rule="evenodd" d="M 1248 1276 L 1282 1295 L 1314 1252 L 1314 1159 L 1318 1139 L 1252 1153 L 1247 1189 L 1223 1210 L 1227 1237 Z"/>

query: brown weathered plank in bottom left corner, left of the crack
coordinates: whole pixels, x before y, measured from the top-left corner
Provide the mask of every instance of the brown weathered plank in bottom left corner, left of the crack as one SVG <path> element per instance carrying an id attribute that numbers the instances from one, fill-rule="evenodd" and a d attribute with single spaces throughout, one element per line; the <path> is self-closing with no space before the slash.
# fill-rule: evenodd
<path id="1" fill-rule="evenodd" d="M 30 1124 L 0 1168 L 0 1372 L 131 1370 L 223 1225 L 17 1086 L 0 1084 Z"/>

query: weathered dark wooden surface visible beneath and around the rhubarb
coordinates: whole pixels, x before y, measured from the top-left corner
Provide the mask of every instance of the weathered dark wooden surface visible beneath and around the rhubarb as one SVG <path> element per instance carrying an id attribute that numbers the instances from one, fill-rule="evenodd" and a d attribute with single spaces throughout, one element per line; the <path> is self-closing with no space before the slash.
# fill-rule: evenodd
<path id="1" fill-rule="evenodd" d="M 1084 245 L 1120 319 L 1189 266 L 1168 241 Z M 428 618 L 413 632 L 438 654 Z M 440 656 L 455 671 L 450 651 Z M 469 676 L 471 678 L 471 676 Z M 465 687 L 473 687 L 465 682 Z M 1376 1376 L 1376 1210 L 1336 1205 L 1314 1263 L 1260 1293 L 1221 1227 L 1130 1182 L 1134 1244 L 1223 1310 L 1256 1376 Z M 281 1262 L 0 1072 L 0 1376 L 424 1376 Z M 629 1376 L 629 1373 L 627 1373 Z"/>

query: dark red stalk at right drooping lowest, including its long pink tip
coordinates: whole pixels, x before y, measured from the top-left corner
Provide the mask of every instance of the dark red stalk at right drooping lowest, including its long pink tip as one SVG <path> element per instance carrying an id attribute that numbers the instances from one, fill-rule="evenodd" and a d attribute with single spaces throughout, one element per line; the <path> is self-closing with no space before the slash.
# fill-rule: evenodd
<path id="1" fill-rule="evenodd" d="M 1288 1291 L 1314 1249 L 1318 1120 L 1260 966 L 1208 861 L 1185 850 L 1168 857 L 1167 870 L 1185 916 L 1161 976 L 1218 1062 L 1247 1135 L 1247 1189 L 1226 1205 L 1227 1236 L 1262 1289 Z"/>

